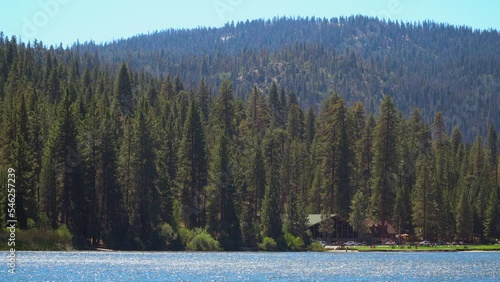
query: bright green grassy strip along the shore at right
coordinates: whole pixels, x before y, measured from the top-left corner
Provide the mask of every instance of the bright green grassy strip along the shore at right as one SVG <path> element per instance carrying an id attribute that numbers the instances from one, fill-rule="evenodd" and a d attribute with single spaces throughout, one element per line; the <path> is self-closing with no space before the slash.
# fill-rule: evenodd
<path id="1" fill-rule="evenodd" d="M 423 247 L 415 246 L 411 248 L 400 248 L 399 246 L 376 246 L 371 248 L 369 246 L 356 246 L 349 247 L 349 250 L 356 250 L 359 252 L 462 252 L 462 251 L 500 251 L 500 245 L 466 245 L 466 246 L 435 246 Z"/>

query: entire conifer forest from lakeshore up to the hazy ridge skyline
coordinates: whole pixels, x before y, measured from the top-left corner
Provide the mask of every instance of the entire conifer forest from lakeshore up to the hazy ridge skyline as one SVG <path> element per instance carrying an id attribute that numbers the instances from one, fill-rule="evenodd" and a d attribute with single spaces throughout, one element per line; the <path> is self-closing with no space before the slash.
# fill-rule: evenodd
<path id="1" fill-rule="evenodd" d="M 489 241 L 498 48 L 497 31 L 365 17 L 66 49 L 2 35 L 0 178 L 16 170 L 22 229 L 67 226 L 81 248 L 301 249 L 307 214 L 332 213 Z"/>

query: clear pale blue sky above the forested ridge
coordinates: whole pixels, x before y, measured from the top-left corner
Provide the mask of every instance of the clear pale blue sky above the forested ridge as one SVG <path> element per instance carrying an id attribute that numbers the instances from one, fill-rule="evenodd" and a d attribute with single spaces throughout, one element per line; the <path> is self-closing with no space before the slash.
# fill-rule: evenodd
<path id="1" fill-rule="evenodd" d="M 219 27 L 228 21 L 275 16 L 368 15 L 434 20 L 500 30 L 496 0 L 4 0 L 0 31 L 45 45 L 97 43 L 167 28 Z"/>

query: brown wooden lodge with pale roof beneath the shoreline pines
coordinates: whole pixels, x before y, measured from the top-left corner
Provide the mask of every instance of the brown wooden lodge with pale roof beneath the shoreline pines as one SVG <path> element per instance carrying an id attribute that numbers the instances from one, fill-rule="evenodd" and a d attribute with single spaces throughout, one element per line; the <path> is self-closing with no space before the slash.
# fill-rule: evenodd
<path id="1" fill-rule="evenodd" d="M 351 224 L 346 219 L 342 218 L 338 214 L 331 215 L 331 223 L 333 224 L 333 228 L 329 228 L 333 230 L 333 233 L 326 234 L 325 232 L 321 232 L 321 214 L 310 214 L 308 215 L 308 228 L 312 234 L 312 237 L 315 240 L 323 240 L 323 241 L 360 241 L 360 240 L 378 240 L 384 238 L 395 238 L 396 231 L 394 227 L 388 223 L 374 223 L 373 221 L 366 220 L 365 232 L 358 232 L 352 229 Z"/>

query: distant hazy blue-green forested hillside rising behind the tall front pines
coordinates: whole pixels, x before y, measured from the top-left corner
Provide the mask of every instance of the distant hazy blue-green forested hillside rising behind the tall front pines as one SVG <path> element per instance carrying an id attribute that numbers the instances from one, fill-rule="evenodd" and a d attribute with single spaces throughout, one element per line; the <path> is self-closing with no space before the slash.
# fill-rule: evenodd
<path id="1" fill-rule="evenodd" d="M 447 129 L 465 140 L 500 126 L 500 36 L 434 22 L 349 18 L 277 18 L 222 28 L 166 30 L 104 46 L 74 47 L 117 71 L 122 61 L 157 78 L 178 75 L 188 89 L 205 78 L 215 93 L 224 79 L 246 98 L 272 81 L 295 91 L 300 104 L 320 109 L 330 91 L 375 112 L 384 95 L 405 116 L 422 109 L 431 123 L 443 112 Z M 96 52 L 96 53 L 94 53 Z"/>

